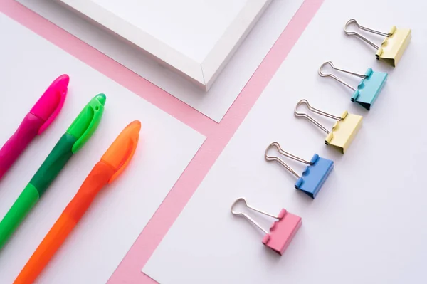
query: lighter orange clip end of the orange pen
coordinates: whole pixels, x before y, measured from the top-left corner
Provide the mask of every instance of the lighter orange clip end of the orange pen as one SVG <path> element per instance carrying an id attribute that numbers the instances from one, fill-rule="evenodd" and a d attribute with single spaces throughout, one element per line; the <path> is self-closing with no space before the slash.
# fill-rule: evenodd
<path id="1" fill-rule="evenodd" d="M 114 174 L 108 181 L 109 184 L 122 174 L 135 154 L 139 140 L 139 130 L 141 130 L 141 122 L 139 120 L 130 122 L 102 156 L 101 160 L 115 169 Z"/>

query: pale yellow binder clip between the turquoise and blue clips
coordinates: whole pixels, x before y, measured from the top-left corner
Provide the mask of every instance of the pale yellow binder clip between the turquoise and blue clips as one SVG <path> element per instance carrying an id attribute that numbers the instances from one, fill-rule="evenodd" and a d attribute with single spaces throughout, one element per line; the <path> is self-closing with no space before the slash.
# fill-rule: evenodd
<path id="1" fill-rule="evenodd" d="M 319 122 L 314 120 L 310 115 L 305 113 L 297 112 L 297 108 L 305 104 L 308 107 L 308 110 L 317 113 L 318 115 L 323 115 L 328 118 L 332 118 L 337 120 L 334 126 L 332 127 L 332 132 L 323 127 Z M 354 140 L 354 136 L 356 136 L 360 127 L 362 126 L 362 117 L 360 115 L 353 115 L 348 113 L 347 110 L 342 112 L 340 117 L 330 115 L 327 112 L 322 112 L 322 110 L 317 110 L 317 108 L 312 107 L 307 100 L 300 100 L 295 106 L 294 115 L 296 117 L 305 117 L 307 120 L 310 120 L 314 125 L 319 127 L 321 130 L 327 133 L 327 137 L 325 138 L 325 144 L 332 145 L 339 149 L 342 154 L 344 154 L 352 141 Z"/>

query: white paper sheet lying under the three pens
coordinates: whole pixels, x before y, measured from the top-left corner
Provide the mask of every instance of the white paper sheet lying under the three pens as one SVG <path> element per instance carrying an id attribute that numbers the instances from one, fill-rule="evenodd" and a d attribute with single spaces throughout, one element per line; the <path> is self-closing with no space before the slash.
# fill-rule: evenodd
<path id="1" fill-rule="evenodd" d="M 68 98 L 58 118 L 0 181 L 0 218 L 80 110 L 97 93 L 107 95 L 93 137 L 0 251 L 0 282 L 13 282 L 115 137 L 128 123 L 140 120 L 139 146 L 129 167 L 102 189 L 37 282 L 106 283 L 205 137 L 4 14 L 0 34 L 1 145 L 51 81 L 62 73 L 70 75 Z"/>

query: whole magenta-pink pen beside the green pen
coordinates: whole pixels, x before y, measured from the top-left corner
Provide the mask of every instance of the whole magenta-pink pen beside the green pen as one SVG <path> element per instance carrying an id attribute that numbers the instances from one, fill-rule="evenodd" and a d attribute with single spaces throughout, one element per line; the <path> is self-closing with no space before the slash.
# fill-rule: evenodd
<path id="1" fill-rule="evenodd" d="M 23 118 L 21 125 L 0 149 L 0 179 L 36 135 L 52 123 L 63 107 L 67 95 L 68 75 L 60 75 Z"/>

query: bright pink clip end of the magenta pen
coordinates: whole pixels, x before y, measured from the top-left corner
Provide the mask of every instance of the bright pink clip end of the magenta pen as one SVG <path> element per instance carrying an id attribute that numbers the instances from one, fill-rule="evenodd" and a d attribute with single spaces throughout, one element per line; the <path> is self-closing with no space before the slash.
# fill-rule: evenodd
<path id="1" fill-rule="evenodd" d="M 41 135 L 58 116 L 67 96 L 69 82 L 68 75 L 60 75 L 46 89 L 45 93 L 36 102 L 36 105 L 31 108 L 30 112 L 44 121 L 43 125 L 38 129 L 38 135 Z"/>

